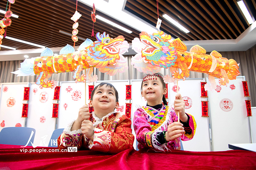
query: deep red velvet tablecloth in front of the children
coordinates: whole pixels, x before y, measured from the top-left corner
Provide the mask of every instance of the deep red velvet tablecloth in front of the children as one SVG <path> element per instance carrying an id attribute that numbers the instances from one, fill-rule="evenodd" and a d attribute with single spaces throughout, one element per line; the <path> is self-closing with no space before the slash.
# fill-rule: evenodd
<path id="1" fill-rule="evenodd" d="M 25 149 L 27 149 L 26 153 Z M 50 149 L 52 151 L 57 148 L 32 146 L 23 148 L 0 144 L 0 169 L 256 169 L 256 152 L 240 150 L 222 152 L 172 150 L 164 153 L 148 149 L 140 151 L 128 149 L 111 155 L 95 151 L 50 152 Z"/>

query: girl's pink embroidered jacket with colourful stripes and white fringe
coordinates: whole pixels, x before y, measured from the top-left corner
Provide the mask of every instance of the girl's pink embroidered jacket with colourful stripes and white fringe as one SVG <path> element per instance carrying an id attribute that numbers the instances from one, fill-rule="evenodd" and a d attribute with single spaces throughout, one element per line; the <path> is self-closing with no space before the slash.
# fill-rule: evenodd
<path id="1" fill-rule="evenodd" d="M 196 132 L 196 121 L 192 115 L 189 116 L 189 126 L 192 129 L 191 134 L 186 132 L 181 136 L 181 140 L 186 141 L 193 138 Z M 176 149 L 180 150 L 180 138 L 169 141 L 165 144 L 160 144 L 157 136 L 167 131 L 167 127 L 172 122 L 177 122 L 178 116 L 175 114 L 172 107 L 163 105 L 161 110 L 156 110 L 152 107 L 145 106 L 137 109 L 134 112 L 133 128 L 136 134 L 136 139 L 139 142 L 138 148 L 144 147 L 155 148 L 157 150 Z"/>

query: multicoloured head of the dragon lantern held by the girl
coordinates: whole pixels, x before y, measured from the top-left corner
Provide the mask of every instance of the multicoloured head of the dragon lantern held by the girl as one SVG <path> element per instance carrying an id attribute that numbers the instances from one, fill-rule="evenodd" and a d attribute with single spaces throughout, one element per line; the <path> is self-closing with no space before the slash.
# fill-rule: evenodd
<path id="1" fill-rule="evenodd" d="M 146 32 L 140 33 L 140 41 L 145 45 L 141 50 L 141 56 L 152 65 L 159 67 L 170 67 L 174 65 L 177 58 L 177 52 L 172 43 L 171 35 L 164 35 L 161 31 L 158 33 L 148 34 Z"/>

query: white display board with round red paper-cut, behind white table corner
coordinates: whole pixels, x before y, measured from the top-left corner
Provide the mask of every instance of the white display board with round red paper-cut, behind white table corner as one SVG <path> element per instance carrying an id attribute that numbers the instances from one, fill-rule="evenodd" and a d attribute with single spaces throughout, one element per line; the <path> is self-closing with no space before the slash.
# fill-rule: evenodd
<path id="1" fill-rule="evenodd" d="M 215 81 L 219 80 L 215 78 Z M 244 76 L 237 76 L 236 80 L 229 80 L 227 86 L 222 85 L 220 92 L 208 92 L 212 151 L 230 150 L 228 144 L 250 143 L 250 125 L 242 81 L 245 81 Z"/>

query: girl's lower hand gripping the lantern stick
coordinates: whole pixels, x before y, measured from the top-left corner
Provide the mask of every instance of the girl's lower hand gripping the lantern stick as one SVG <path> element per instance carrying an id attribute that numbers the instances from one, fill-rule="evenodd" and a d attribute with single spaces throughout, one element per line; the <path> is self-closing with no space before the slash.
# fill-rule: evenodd
<path id="1" fill-rule="evenodd" d="M 184 133 L 185 130 L 183 128 L 183 124 L 180 122 L 173 122 L 170 125 L 168 125 L 167 132 L 165 132 L 165 139 L 167 142 L 174 140 L 178 137 L 181 137 L 182 133 Z"/>

